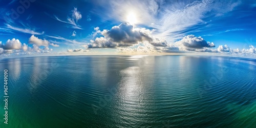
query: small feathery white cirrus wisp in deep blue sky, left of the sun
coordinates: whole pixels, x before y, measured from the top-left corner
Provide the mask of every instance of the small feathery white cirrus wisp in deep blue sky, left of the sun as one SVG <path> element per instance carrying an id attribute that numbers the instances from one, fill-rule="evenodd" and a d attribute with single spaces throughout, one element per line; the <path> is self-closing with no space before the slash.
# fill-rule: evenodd
<path id="1" fill-rule="evenodd" d="M 78 20 L 82 18 L 82 14 L 77 10 L 77 8 L 74 8 L 72 10 L 71 17 L 67 17 L 67 21 L 59 19 L 56 15 L 54 15 L 54 19 L 58 20 L 59 22 L 69 24 L 71 28 L 73 29 L 82 29 L 80 25 L 78 25 Z"/>

